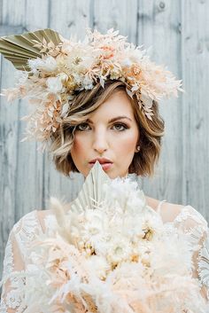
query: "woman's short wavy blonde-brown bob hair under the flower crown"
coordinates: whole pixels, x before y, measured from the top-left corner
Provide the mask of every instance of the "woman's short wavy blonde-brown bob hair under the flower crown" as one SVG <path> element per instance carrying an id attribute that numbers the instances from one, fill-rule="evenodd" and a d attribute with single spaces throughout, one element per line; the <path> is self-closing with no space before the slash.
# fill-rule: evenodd
<path id="1" fill-rule="evenodd" d="M 79 172 L 70 153 L 74 144 L 76 126 L 86 121 L 90 113 L 97 110 L 98 106 L 119 90 L 126 92 L 124 82 L 108 80 L 105 82 L 104 88 L 97 83 L 92 90 L 82 90 L 75 96 L 65 121 L 62 121 L 60 128 L 51 136 L 50 153 L 59 172 L 65 176 L 70 176 L 71 172 Z M 138 145 L 141 148 L 139 153 L 135 153 L 128 173 L 135 173 L 138 176 L 153 176 L 155 163 L 159 160 L 161 137 L 164 135 L 164 121 L 159 115 L 159 105 L 153 101 L 154 115 L 152 115 L 151 121 L 140 110 L 137 99 L 129 96 L 128 98 L 138 124 Z"/>

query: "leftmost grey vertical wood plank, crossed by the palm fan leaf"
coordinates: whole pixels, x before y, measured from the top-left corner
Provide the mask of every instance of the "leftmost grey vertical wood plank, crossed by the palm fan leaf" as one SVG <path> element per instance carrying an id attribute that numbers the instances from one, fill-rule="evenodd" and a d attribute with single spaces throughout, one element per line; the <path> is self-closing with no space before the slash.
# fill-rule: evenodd
<path id="1" fill-rule="evenodd" d="M 1 3 L 1 24 L 10 26 L 16 33 L 15 26 L 24 24 L 24 1 L 17 1 L 18 10 L 12 1 Z M 1 89 L 13 86 L 15 82 L 12 64 L 1 57 Z M 0 270 L 2 271 L 4 246 L 8 239 L 8 233 L 16 221 L 19 207 L 17 200 L 17 171 L 19 155 L 19 101 L 8 104 L 4 98 L 0 98 Z M 20 170 L 20 168 L 19 168 Z"/>

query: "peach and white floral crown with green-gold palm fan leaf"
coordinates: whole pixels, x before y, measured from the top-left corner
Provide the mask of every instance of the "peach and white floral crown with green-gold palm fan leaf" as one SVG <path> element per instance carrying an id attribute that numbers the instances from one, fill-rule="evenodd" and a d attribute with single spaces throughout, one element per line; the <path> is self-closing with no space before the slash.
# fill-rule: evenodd
<path id="1" fill-rule="evenodd" d="M 153 101 L 182 90 L 182 81 L 151 62 L 142 46 L 127 43 L 119 31 L 102 35 L 88 28 L 83 41 L 67 40 L 51 29 L 0 39 L 0 52 L 19 69 L 15 88 L 3 90 L 8 101 L 27 98 L 35 110 L 27 121 L 27 136 L 43 142 L 43 150 L 66 116 L 74 97 L 99 82 L 124 82 L 128 95 L 151 120 Z"/>

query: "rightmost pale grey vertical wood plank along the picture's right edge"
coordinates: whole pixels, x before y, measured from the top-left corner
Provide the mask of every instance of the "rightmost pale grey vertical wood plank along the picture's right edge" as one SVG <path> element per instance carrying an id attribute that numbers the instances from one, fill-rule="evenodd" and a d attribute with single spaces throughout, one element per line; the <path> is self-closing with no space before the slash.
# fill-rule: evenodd
<path id="1" fill-rule="evenodd" d="M 209 3 L 182 2 L 183 198 L 208 219 Z"/>

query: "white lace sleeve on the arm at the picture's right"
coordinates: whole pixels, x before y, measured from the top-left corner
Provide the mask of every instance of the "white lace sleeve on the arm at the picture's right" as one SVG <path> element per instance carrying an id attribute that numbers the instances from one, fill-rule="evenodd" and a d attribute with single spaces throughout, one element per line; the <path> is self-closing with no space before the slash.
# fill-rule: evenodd
<path id="1" fill-rule="evenodd" d="M 187 233 L 193 251 L 193 273 L 200 283 L 200 293 L 209 305 L 209 229 L 203 215 L 186 206 L 175 218 L 175 226 Z"/>

